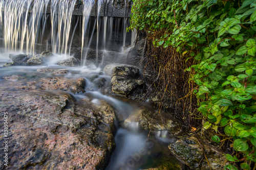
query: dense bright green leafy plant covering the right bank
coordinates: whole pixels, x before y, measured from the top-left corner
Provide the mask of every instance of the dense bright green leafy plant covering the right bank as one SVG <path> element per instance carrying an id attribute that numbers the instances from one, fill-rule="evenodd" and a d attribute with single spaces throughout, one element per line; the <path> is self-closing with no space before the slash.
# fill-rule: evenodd
<path id="1" fill-rule="evenodd" d="M 256 0 L 135 0 L 132 13 L 129 29 L 145 30 L 155 47 L 176 47 L 197 61 L 186 70 L 207 120 L 203 128 L 217 143 L 232 139 L 240 158 L 227 154 L 228 161 L 255 169 Z"/>

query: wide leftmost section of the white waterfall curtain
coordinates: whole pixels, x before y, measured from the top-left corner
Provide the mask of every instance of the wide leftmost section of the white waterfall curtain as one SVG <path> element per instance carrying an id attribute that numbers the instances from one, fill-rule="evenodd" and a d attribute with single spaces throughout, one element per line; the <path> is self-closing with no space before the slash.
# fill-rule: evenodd
<path id="1" fill-rule="evenodd" d="M 48 3 L 49 0 L 0 2 L 0 8 L 4 9 L 4 13 L 0 14 L 0 31 L 6 51 L 23 51 L 26 44 L 26 53 L 35 53 L 35 44 L 42 39 L 42 27 L 45 25 L 43 20 L 46 17 L 43 13 Z"/>

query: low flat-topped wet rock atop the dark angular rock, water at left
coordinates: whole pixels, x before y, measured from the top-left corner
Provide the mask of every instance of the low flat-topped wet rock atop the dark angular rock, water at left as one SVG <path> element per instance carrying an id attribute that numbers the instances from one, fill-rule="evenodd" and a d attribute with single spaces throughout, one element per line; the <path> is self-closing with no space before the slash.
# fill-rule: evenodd
<path id="1" fill-rule="evenodd" d="M 125 64 L 110 64 L 105 66 L 104 73 L 111 77 L 115 75 L 135 77 L 139 74 L 139 68 Z"/>

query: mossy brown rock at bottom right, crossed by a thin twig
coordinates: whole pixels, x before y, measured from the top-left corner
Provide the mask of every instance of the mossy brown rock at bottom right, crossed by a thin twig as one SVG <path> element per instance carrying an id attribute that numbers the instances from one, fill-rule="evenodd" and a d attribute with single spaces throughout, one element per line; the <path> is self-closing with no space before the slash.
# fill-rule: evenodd
<path id="1" fill-rule="evenodd" d="M 216 145 L 211 144 L 205 137 L 203 139 L 200 138 L 200 140 L 204 146 L 204 152 L 211 169 L 223 169 L 222 165 L 225 166 L 228 164 L 225 163 L 226 159 L 223 155 L 225 153 L 220 151 Z M 191 169 L 210 169 L 207 160 L 204 158 L 204 153 L 198 139 L 195 136 L 178 139 L 176 142 L 169 144 L 168 148 L 175 157 Z M 201 161 L 202 158 L 204 159 Z M 199 164 L 200 161 L 201 163 Z"/>

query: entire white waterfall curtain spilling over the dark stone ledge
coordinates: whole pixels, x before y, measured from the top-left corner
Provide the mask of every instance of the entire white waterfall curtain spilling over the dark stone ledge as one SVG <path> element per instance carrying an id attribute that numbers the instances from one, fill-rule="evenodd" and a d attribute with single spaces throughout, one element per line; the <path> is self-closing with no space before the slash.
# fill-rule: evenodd
<path id="1" fill-rule="evenodd" d="M 100 67 L 126 63 L 122 46 L 130 41 L 133 45 L 136 38 L 136 33 L 132 33 L 132 40 L 131 33 L 126 33 L 130 25 L 125 17 L 127 10 L 122 9 L 123 14 L 110 0 L 83 0 L 82 8 L 76 3 L 77 0 L 0 0 L 0 47 L 7 53 L 36 55 L 47 50 L 49 44 L 53 54 L 80 58 L 81 66 L 88 65 L 87 61 Z"/>

